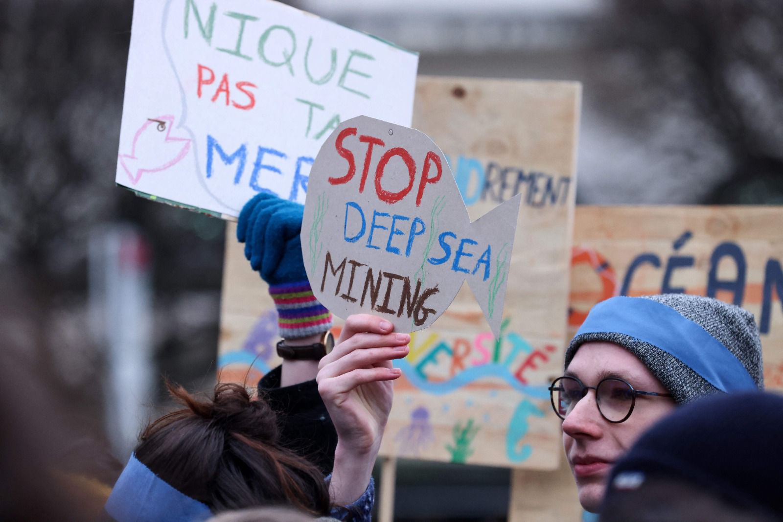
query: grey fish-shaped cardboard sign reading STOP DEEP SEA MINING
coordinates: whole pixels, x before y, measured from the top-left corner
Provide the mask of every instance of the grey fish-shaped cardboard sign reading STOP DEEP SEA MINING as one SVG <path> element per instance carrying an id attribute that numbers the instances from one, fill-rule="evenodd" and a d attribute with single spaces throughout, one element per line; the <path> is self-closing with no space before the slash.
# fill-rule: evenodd
<path id="1" fill-rule="evenodd" d="M 467 281 L 500 335 L 520 196 L 471 223 L 441 149 L 371 117 L 343 122 L 312 165 L 302 254 L 313 292 L 340 317 L 430 326 Z"/>

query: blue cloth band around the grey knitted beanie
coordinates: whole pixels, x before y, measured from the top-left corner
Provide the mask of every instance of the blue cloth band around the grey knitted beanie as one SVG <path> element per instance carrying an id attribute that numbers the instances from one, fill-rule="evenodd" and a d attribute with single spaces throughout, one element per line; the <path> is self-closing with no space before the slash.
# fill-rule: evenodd
<path id="1" fill-rule="evenodd" d="M 622 333 L 679 359 L 720 391 L 756 390 L 753 378 L 727 347 L 698 323 L 651 299 L 612 297 L 596 304 L 583 333 Z"/>

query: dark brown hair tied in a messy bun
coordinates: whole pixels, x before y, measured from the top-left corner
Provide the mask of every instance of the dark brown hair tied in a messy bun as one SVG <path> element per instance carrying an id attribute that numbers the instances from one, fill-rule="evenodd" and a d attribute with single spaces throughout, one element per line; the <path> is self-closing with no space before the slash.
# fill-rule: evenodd
<path id="1" fill-rule="evenodd" d="M 236 383 L 215 386 L 212 400 L 166 385 L 186 408 L 150 423 L 135 449 L 158 477 L 213 512 L 284 505 L 328 513 L 322 473 L 280 445 L 276 415 L 265 401 L 251 400 Z"/>

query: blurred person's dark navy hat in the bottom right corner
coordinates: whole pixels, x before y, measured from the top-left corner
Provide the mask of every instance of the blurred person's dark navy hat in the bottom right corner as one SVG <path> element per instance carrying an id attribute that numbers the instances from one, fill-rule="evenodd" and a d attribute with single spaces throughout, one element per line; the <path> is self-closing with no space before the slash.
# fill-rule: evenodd
<path id="1" fill-rule="evenodd" d="M 601 522 L 783 520 L 783 397 L 732 394 L 684 406 L 620 459 Z"/>

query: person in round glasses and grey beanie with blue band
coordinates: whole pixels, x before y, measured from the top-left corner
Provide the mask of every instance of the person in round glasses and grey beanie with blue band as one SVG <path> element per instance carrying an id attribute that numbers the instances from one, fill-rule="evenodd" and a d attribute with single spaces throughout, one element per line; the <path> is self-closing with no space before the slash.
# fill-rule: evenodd
<path id="1" fill-rule="evenodd" d="M 612 297 L 596 304 L 552 383 L 579 502 L 597 513 L 613 463 L 677 405 L 763 390 L 752 314 L 709 297 Z"/>

